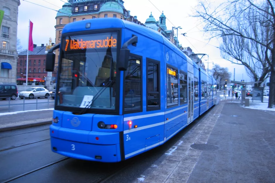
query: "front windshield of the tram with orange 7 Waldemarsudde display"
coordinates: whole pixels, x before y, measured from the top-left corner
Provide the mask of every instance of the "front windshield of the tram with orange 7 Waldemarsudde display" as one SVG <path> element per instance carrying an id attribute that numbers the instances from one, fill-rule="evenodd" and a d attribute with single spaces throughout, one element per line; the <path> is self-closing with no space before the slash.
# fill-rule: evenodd
<path id="1" fill-rule="evenodd" d="M 117 33 L 62 38 L 57 105 L 115 109 L 117 42 Z"/>

